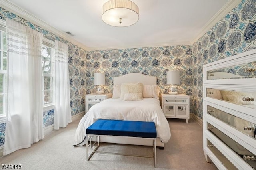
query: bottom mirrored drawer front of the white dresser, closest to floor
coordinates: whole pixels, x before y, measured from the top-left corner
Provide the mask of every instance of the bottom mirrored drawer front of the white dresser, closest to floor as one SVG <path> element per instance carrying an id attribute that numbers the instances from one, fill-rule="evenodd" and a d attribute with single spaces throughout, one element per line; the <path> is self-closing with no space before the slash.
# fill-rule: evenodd
<path id="1" fill-rule="evenodd" d="M 214 155 L 222 162 L 222 164 L 228 169 L 228 170 L 238 170 L 232 162 L 226 158 L 213 144 L 207 139 L 207 147 L 214 153 Z"/>

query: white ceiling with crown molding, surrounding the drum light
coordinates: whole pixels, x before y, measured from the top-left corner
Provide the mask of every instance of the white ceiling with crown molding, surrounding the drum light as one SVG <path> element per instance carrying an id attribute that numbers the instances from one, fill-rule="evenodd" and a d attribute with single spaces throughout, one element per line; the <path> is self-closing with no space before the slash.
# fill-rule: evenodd
<path id="1" fill-rule="evenodd" d="M 74 34 L 71 42 L 87 50 L 189 45 L 240 2 L 132 0 L 140 10 L 138 22 L 128 27 L 113 27 L 101 19 L 102 5 L 107 1 L 7 0 L 61 33 L 71 32 Z M 70 40 L 69 35 L 64 35 Z"/>

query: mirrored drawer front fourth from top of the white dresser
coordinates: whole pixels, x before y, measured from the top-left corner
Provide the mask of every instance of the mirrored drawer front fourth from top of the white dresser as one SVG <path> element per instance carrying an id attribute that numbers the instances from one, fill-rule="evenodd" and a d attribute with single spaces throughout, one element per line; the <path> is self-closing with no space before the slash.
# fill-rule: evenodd
<path id="1" fill-rule="evenodd" d="M 256 156 L 244 148 L 242 145 L 235 142 L 233 139 L 228 137 L 226 134 L 222 133 L 216 127 L 208 123 L 208 130 L 210 130 L 214 135 L 216 135 L 222 142 L 224 142 L 228 147 L 230 147 L 238 156 L 242 157 L 252 168 L 256 168 Z"/>

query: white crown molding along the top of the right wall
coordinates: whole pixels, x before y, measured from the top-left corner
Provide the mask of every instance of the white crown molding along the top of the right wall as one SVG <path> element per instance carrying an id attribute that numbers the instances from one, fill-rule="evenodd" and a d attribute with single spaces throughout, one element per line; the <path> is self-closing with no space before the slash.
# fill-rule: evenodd
<path id="1" fill-rule="evenodd" d="M 191 41 L 194 44 L 199 38 L 201 38 L 208 30 L 210 30 L 218 21 L 220 21 L 226 14 L 228 14 L 233 8 L 235 8 L 241 0 L 229 0 L 198 32 L 196 37 Z"/>

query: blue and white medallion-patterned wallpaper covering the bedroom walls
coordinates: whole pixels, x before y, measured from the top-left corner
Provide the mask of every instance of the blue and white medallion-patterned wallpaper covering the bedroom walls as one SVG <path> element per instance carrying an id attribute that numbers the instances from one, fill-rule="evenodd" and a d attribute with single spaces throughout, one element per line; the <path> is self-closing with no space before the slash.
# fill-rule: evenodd
<path id="1" fill-rule="evenodd" d="M 161 93 L 166 93 L 166 72 L 175 69 L 180 71 L 179 93 L 190 96 L 191 111 L 203 118 L 202 66 L 256 48 L 256 0 L 242 0 L 193 45 L 168 47 L 86 51 L 0 8 L 0 19 L 6 17 L 68 44 L 72 115 L 85 111 L 85 94 L 94 91 L 93 73 L 105 73 L 105 93 L 112 93 L 113 77 L 134 72 L 156 76 Z M 42 114 L 44 127 L 52 125 L 54 110 Z M 0 124 L 0 147 L 5 125 Z"/>

